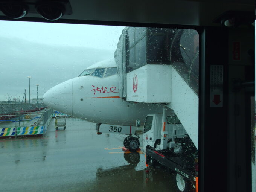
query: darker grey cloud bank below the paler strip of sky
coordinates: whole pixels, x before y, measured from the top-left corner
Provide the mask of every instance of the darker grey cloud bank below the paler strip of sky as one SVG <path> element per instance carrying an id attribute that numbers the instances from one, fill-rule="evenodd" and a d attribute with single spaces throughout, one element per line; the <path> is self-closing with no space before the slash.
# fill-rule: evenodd
<path id="1" fill-rule="evenodd" d="M 114 56 L 114 51 L 76 46 L 50 46 L 0 36 L 0 100 L 6 94 L 22 99 L 30 79 L 31 98 L 56 84 L 78 76 L 85 68 Z"/>

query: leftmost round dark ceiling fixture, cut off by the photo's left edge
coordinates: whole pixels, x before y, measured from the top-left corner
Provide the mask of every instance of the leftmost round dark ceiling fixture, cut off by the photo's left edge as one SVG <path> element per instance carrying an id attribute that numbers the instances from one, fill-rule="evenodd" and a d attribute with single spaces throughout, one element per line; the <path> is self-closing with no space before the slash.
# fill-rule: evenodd
<path id="1" fill-rule="evenodd" d="M 0 10 L 7 17 L 12 19 L 20 19 L 28 14 L 29 8 L 18 2 L 5 2 L 0 4 Z"/>

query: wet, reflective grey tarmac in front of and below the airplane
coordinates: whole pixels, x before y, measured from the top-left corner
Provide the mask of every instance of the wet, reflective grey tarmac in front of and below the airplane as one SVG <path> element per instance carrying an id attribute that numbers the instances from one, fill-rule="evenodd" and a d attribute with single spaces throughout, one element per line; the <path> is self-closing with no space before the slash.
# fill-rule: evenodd
<path id="1" fill-rule="evenodd" d="M 1 191 L 175 192 L 173 175 L 145 172 L 145 154 L 124 153 L 125 135 L 96 135 L 75 118 L 45 137 L 0 139 Z M 140 140 L 141 147 L 142 141 Z"/>

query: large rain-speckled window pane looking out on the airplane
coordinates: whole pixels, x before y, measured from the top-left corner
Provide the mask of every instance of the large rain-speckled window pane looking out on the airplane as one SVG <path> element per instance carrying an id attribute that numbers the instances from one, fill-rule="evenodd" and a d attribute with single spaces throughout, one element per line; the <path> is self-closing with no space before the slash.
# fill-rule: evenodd
<path id="1" fill-rule="evenodd" d="M 149 174 L 146 172 L 143 148 L 159 150 L 163 119 L 167 131 L 176 130 L 168 133 L 167 141 L 176 142 L 168 143 L 172 146 L 169 151 L 183 151 L 181 141 L 197 145 L 198 118 L 191 116 L 198 114 L 198 103 L 186 98 L 191 92 L 194 94 L 190 88 L 198 89 L 197 32 L 8 22 L 0 22 L 3 66 L 0 139 L 5 137 L 0 142 L 4 154 L 0 158 L 1 173 L 5 175 L 0 182 L 3 190 L 34 190 L 40 183 L 44 191 L 56 187 L 62 190 L 66 186 L 70 186 L 67 191 L 125 191 L 127 185 L 120 183 L 127 181 L 135 189 L 153 192 L 158 187 L 155 182 L 161 181 L 161 190 L 177 192 L 179 177 L 154 166 L 154 160 L 149 165 Z M 141 70 L 148 66 L 157 68 L 151 73 Z M 166 68 L 160 71 L 163 66 Z M 21 70 L 16 73 L 14 69 Z M 86 70 L 81 73 L 81 69 Z M 136 74 L 129 79 L 129 73 L 133 72 Z M 175 72 L 176 79 L 171 78 L 171 72 Z M 167 74 L 168 81 L 160 82 Z M 148 79 L 154 81 L 147 84 Z M 170 88 L 172 81 L 176 81 L 175 87 Z M 152 90 L 141 91 L 146 86 Z M 161 90 L 155 91 L 159 87 Z M 190 92 L 183 93 L 184 87 Z M 137 102 L 128 99 L 128 91 L 134 94 L 133 99 L 144 99 L 151 93 L 154 98 L 160 93 L 162 98 L 167 93 L 180 100 Z M 193 107 L 189 101 L 193 101 Z M 164 107 L 168 110 L 163 118 Z M 140 122 L 139 127 L 136 122 Z M 24 139 L 26 134 L 32 136 Z M 123 147 L 131 150 L 125 152 Z M 187 155 L 192 162 L 188 167 L 196 176 L 194 151 L 181 155 Z M 38 168 L 30 183 L 23 178 L 31 175 L 28 167 Z M 181 184 L 186 179 L 185 172 L 184 178 L 180 177 Z M 139 186 L 133 181 L 138 181 Z"/>

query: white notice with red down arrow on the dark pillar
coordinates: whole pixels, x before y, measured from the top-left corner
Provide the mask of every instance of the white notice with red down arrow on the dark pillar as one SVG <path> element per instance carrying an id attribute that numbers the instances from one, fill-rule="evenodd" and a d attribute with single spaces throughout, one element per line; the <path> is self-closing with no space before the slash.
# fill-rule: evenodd
<path id="1" fill-rule="evenodd" d="M 210 107 L 223 107 L 223 66 L 210 68 Z"/>

